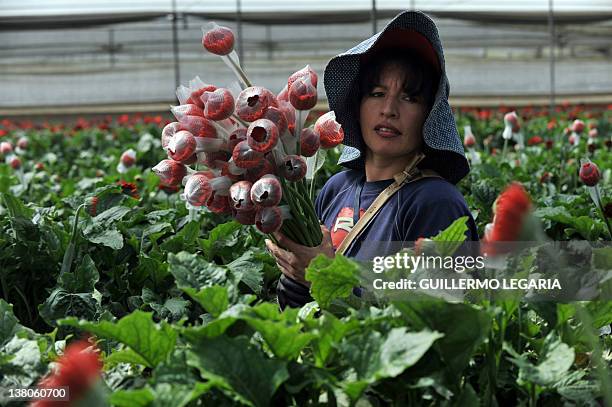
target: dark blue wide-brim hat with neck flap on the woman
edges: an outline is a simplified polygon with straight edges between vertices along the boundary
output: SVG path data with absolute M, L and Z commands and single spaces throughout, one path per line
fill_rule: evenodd
M 376 35 L 348 51 L 335 56 L 324 74 L 325 91 L 330 110 L 344 129 L 344 149 L 338 160 L 347 168 L 365 166 L 365 143 L 359 127 L 359 75 L 361 67 L 375 52 L 382 49 L 410 50 L 423 58 L 439 77 L 435 99 L 423 124 L 422 165 L 435 170 L 456 184 L 470 171 L 463 144 L 448 104 L 450 86 L 446 77 L 444 52 L 433 20 L 420 11 L 398 14 Z

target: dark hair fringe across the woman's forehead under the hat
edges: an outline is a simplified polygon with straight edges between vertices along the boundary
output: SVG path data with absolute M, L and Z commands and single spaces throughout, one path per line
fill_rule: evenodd
M 376 85 L 380 84 L 380 76 L 388 66 L 399 66 L 404 72 L 403 88 L 410 96 L 422 96 L 429 112 L 436 96 L 437 81 L 434 68 L 426 64 L 418 54 L 410 51 L 383 50 L 367 55 L 362 62 L 362 71 L 359 75 L 359 100 L 370 93 Z

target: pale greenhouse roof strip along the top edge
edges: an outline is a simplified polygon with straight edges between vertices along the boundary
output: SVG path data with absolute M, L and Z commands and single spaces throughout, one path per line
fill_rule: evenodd
M 236 19 L 237 1 L 205 0 L 3 0 L 0 29 L 67 28 L 143 21 L 173 12 L 206 19 Z M 265 24 L 342 23 L 371 18 L 372 0 L 242 0 L 241 19 Z M 378 0 L 377 16 L 391 17 L 414 8 L 438 17 L 512 23 L 543 23 L 549 0 Z M 588 22 L 612 18 L 610 0 L 555 0 L 557 22 Z

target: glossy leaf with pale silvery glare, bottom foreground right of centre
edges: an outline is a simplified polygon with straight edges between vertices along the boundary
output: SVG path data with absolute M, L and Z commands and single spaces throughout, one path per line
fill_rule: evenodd
M 355 370 L 357 380 L 344 383 L 346 393 L 356 401 L 368 385 L 396 377 L 414 365 L 443 336 L 429 330 L 407 332 L 401 327 L 385 337 L 377 331 L 349 337 L 340 344 L 340 351 Z

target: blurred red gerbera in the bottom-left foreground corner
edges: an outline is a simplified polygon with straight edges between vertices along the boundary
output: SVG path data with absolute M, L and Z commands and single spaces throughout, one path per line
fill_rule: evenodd
M 73 342 L 66 348 L 64 355 L 57 361 L 54 372 L 43 378 L 38 387 L 68 387 L 71 400 L 83 396 L 98 380 L 102 370 L 98 350 L 87 340 Z M 39 400 L 33 407 L 65 406 L 65 401 Z

